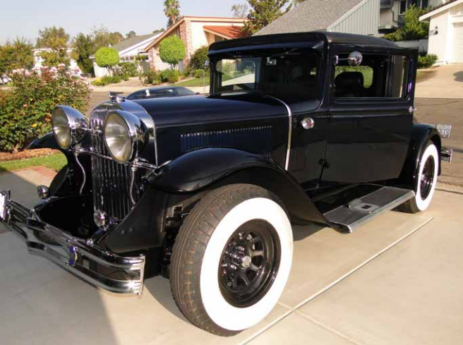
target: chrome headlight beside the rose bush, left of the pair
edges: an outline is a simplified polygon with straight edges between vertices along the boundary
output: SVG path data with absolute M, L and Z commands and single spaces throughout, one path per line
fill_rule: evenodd
M 52 127 L 59 147 L 67 150 L 83 140 L 88 130 L 88 120 L 80 111 L 59 105 L 52 111 Z

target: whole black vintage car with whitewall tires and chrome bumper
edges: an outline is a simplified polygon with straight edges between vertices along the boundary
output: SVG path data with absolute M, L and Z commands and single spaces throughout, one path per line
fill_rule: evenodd
M 188 320 L 228 336 L 277 303 L 291 224 L 350 233 L 392 208 L 424 211 L 450 151 L 414 123 L 414 50 L 306 32 L 216 42 L 209 57 L 208 96 L 112 96 L 89 117 L 56 107 L 31 148 L 68 165 L 32 210 L 2 192 L 0 218 L 103 289 L 169 277 Z

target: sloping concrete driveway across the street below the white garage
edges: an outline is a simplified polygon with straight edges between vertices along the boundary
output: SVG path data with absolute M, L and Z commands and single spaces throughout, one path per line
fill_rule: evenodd
M 463 63 L 450 63 L 428 71 L 430 78 L 416 84 L 415 97 L 463 98 Z

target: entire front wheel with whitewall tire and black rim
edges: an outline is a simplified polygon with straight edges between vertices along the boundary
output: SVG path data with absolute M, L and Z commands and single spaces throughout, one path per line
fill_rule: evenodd
M 196 205 L 174 244 L 171 288 L 194 325 L 231 336 L 260 322 L 289 277 L 292 229 L 268 190 L 237 184 Z

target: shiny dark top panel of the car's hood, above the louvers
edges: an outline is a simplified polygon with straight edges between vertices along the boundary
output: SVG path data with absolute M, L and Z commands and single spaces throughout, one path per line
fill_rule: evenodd
M 156 128 L 249 119 L 250 116 L 265 118 L 287 115 L 287 109 L 282 102 L 265 96 L 194 95 L 140 99 L 134 102 L 140 104 L 152 116 Z

